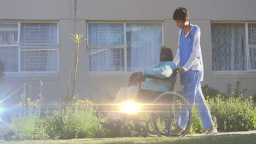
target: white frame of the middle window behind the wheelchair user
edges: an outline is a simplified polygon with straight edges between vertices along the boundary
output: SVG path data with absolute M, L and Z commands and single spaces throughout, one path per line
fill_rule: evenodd
M 87 38 L 89 38 L 89 23 L 124 23 L 124 45 L 89 45 L 87 40 L 87 71 L 88 74 L 127 74 L 132 71 L 127 71 L 127 44 L 126 44 L 126 23 L 161 23 L 162 24 L 162 45 L 164 44 L 164 21 L 87 21 Z M 89 57 L 88 49 L 124 49 L 124 71 L 90 71 L 89 70 Z

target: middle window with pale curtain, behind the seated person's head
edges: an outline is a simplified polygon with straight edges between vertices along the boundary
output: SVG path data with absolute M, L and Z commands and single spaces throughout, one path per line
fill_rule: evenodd
M 135 71 L 159 62 L 162 22 L 89 22 L 89 71 Z

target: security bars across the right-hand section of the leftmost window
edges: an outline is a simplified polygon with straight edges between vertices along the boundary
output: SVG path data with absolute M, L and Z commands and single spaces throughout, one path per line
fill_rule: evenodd
M 20 71 L 58 71 L 57 23 L 20 24 Z

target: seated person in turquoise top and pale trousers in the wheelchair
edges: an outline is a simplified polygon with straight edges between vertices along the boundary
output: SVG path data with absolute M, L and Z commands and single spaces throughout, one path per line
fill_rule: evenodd
M 173 56 L 172 51 L 168 45 L 164 45 L 161 48 L 160 52 L 160 63 L 155 65 L 153 69 L 148 69 L 141 71 L 139 73 L 133 73 L 129 78 L 129 87 L 123 87 L 119 90 L 117 95 L 115 96 L 115 99 L 113 101 L 114 104 L 120 104 L 123 103 L 123 101 L 126 100 L 135 100 L 138 96 L 139 88 L 136 86 L 137 81 L 141 79 L 143 75 L 154 75 L 156 77 L 160 77 L 164 79 L 165 77 L 170 77 L 172 74 L 172 71 L 174 69 L 178 69 L 176 64 L 172 63 Z M 152 91 L 156 91 L 156 93 L 159 92 L 169 92 L 170 88 L 172 86 L 171 81 L 163 81 L 163 80 L 156 80 L 156 79 L 146 79 L 144 82 L 144 89 L 150 89 Z M 146 92 L 146 91 L 145 91 Z M 145 97 L 150 97 L 150 95 L 156 96 L 156 93 L 144 93 L 143 91 L 140 92 L 141 94 L 145 95 Z M 115 130 L 118 130 L 118 125 L 123 125 L 123 131 L 127 129 L 129 125 L 129 119 L 125 117 L 125 113 L 120 113 L 114 111 L 114 107 L 111 107 L 108 113 L 108 122 L 101 122 L 103 125 L 103 128 L 112 129 L 115 128 Z M 113 127 L 117 126 L 117 127 Z M 125 134 L 123 134 L 124 136 Z

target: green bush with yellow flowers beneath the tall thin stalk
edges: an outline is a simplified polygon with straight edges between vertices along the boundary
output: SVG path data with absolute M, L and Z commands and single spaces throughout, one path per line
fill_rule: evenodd
M 44 125 L 50 139 L 77 139 L 100 137 L 103 129 L 96 116 L 94 104 L 88 100 L 78 100 L 63 109 L 47 112 Z

